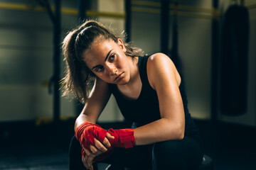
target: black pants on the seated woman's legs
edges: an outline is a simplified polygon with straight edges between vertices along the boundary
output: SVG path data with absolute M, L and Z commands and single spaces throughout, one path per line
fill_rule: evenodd
M 70 143 L 70 170 L 82 170 L 81 147 L 73 137 Z M 202 162 L 200 142 L 192 137 L 183 140 L 157 142 L 154 145 L 136 146 L 131 149 L 115 148 L 102 162 L 129 169 L 196 169 Z

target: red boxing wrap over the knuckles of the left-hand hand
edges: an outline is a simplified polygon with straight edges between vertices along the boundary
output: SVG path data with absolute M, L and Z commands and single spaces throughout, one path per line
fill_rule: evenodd
M 103 143 L 107 135 L 107 130 L 102 129 L 99 125 L 85 122 L 78 126 L 75 130 L 75 137 L 78 139 L 82 147 L 90 150 L 90 145 L 95 146 L 95 140 Z

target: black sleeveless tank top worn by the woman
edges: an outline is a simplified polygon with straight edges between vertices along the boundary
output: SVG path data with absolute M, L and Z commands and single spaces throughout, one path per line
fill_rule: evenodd
M 139 94 L 139 98 L 135 100 L 126 98 L 117 89 L 116 84 L 110 84 L 110 91 L 114 95 L 122 115 L 125 119 L 134 122 L 136 127 L 146 125 L 161 118 L 156 91 L 150 86 L 146 74 L 146 62 L 148 58 L 149 56 L 139 57 L 139 75 L 142 80 L 142 91 Z M 196 137 L 198 136 L 198 128 L 196 128 L 190 113 L 188 113 L 188 101 L 186 99 L 183 81 L 181 81 L 179 89 L 185 112 L 185 135 Z

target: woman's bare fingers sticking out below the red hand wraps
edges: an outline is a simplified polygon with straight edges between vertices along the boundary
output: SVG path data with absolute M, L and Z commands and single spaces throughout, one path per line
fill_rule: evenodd
M 92 163 L 95 162 L 95 157 L 107 152 L 107 149 L 111 147 L 109 140 L 113 139 L 114 137 L 107 132 L 107 135 L 102 143 L 95 139 L 95 146 L 90 145 L 90 150 L 82 147 L 85 151 L 85 154 L 82 155 L 82 164 L 84 164 L 86 169 L 93 170 Z

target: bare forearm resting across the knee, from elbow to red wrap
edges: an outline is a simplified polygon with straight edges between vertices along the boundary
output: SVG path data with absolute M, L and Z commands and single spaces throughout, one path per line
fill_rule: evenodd
M 134 129 L 136 145 L 148 145 L 165 140 L 182 140 L 184 136 L 184 123 L 176 123 L 173 120 L 161 118 Z

